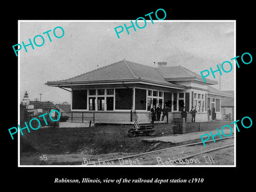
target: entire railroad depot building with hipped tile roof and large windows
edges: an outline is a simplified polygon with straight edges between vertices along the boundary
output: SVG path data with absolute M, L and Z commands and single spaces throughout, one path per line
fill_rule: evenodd
M 94 117 L 95 123 L 130 124 L 138 119 L 141 124 L 151 122 L 150 109 L 158 104 L 169 110 L 169 121 L 181 118 L 183 107 L 190 111 L 192 106 L 197 110 L 196 122 L 207 121 L 207 106 L 213 119 L 221 119 L 221 98 L 233 96 L 209 86 L 217 83 L 204 82 L 201 75 L 181 66 L 167 67 L 166 62 L 150 67 L 122 60 L 46 85 L 71 89 L 72 122 Z

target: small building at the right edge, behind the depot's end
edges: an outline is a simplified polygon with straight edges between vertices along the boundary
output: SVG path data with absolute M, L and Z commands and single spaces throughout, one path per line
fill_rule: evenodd
M 233 97 L 222 98 L 221 99 L 221 116 L 222 119 L 234 121 L 235 120 L 235 101 L 234 101 L 234 91 L 222 91 L 223 93 L 233 95 Z

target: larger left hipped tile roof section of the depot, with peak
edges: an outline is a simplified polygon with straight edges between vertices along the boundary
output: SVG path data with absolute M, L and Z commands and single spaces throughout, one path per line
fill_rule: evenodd
M 172 85 L 182 87 L 165 81 L 163 76 L 154 67 L 141 65 L 131 61 L 119 61 L 111 65 L 92 70 L 88 73 L 78 75 L 73 78 L 47 82 L 47 85 L 65 84 L 65 83 L 90 83 L 107 81 L 148 81 L 158 84 Z

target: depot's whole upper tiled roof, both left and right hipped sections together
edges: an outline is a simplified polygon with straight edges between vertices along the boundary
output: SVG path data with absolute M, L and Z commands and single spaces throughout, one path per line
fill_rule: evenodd
M 197 80 L 202 81 L 201 75 L 181 66 L 174 67 L 150 67 L 131 61 L 118 61 L 111 65 L 95 69 L 61 81 L 47 82 L 46 85 L 67 85 L 73 83 L 101 83 L 101 82 L 122 82 L 122 81 L 146 81 L 161 85 L 172 85 L 183 87 L 169 81 L 177 80 Z M 218 82 L 206 79 L 206 83 L 217 84 Z

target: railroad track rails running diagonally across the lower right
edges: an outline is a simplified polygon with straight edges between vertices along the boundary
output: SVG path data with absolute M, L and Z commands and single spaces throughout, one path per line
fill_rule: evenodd
M 218 140 L 225 140 L 225 139 L 230 139 L 230 138 L 234 138 L 234 136 L 230 136 L 230 137 L 222 138 L 222 139 L 215 139 L 215 141 L 218 141 Z M 209 143 L 209 142 L 213 142 L 213 140 L 205 141 L 205 143 Z M 102 165 L 102 164 L 104 164 L 105 162 L 118 162 L 118 161 L 120 162 L 120 159 L 122 159 L 122 161 L 123 161 L 123 159 L 130 159 L 130 158 L 139 157 L 139 156 L 145 156 L 145 155 L 153 154 L 153 153 L 161 153 L 162 151 L 172 150 L 172 149 L 181 148 L 181 147 L 195 146 L 195 145 L 200 145 L 200 144 L 202 144 L 202 143 L 203 143 L 203 142 L 195 142 L 195 143 L 190 143 L 190 144 L 187 144 L 187 145 L 181 145 L 181 146 L 169 147 L 169 148 L 164 148 L 164 149 L 158 149 L 158 150 L 148 151 L 148 152 L 140 153 L 140 154 L 134 154 L 134 155 L 124 156 L 124 157 L 118 157 L 118 158 L 107 159 L 107 160 L 104 160 L 104 161 L 98 161 L 98 162 L 89 163 L 89 164 L 86 164 L 86 165 L 95 165 L 95 164 Z M 173 162 L 179 162 L 179 159 L 180 159 L 180 160 L 182 160 L 182 159 L 188 159 L 188 158 L 191 158 L 191 157 L 200 155 L 200 154 L 209 153 L 209 152 L 211 152 L 211 151 L 220 150 L 220 149 L 227 148 L 227 147 L 231 147 L 231 146 L 234 146 L 234 143 L 231 144 L 231 145 L 221 146 L 221 147 L 217 147 L 217 148 L 214 148 L 214 149 L 205 150 L 205 151 L 202 151 L 202 152 L 199 152 L 199 153 L 195 153 L 195 154 L 192 154 L 192 155 L 188 155 L 188 156 L 185 156 L 185 157 L 173 159 L 172 161 L 173 161 Z M 175 163 L 174 163 L 174 164 L 175 164 Z M 159 164 L 154 164 L 154 165 L 159 165 Z

